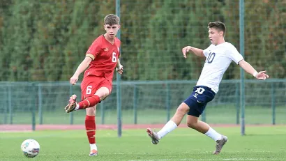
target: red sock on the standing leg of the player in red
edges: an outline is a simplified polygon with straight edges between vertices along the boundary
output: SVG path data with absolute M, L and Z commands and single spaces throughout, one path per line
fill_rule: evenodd
M 96 144 L 96 116 L 86 115 L 85 129 L 89 144 Z

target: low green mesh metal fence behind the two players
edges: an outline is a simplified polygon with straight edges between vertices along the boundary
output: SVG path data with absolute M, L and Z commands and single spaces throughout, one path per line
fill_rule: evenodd
M 121 82 L 123 124 L 165 123 L 193 91 L 195 81 Z M 225 80 L 209 102 L 202 120 L 239 124 L 240 81 Z M 246 124 L 286 123 L 286 79 L 246 80 Z M 68 82 L 1 82 L 1 124 L 81 124 L 85 110 L 66 114 L 63 107 L 80 84 Z M 97 123 L 115 124 L 116 82 L 112 94 L 97 107 Z

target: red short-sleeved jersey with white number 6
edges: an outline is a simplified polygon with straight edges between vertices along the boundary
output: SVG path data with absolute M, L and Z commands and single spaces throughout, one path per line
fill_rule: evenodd
M 86 52 L 86 56 L 91 57 L 93 61 L 91 61 L 89 68 L 84 72 L 84 77 L 96 75 L 112 80 L 120 55 L 120 43 L 118 38 L 115 38 L 114 44 L 112 44 L 103 35 L 98 36 Z

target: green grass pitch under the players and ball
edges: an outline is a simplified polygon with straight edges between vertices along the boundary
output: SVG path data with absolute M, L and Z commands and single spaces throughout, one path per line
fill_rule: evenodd
M 227 135 L 229 141 L 220 155 L 212 155 L 215 142 L 195 130 L 178 128 L 164 137 L 158 145 L 151 144 L 144 129 L 98 130 L 98 156 L 89 157 L 89 144 L 84 130 L 47 130 L 36 132 L 0 132 L 0 160 L 286 160 L 286 127 L 215 128 Z M 40 153 L 25 158 L 20 151 L 24 139 L 36 139 Z

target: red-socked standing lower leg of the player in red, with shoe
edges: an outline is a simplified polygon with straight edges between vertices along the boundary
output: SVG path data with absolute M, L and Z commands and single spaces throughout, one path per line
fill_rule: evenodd
M 89 156 L 96 156 L 98 155 L 96 146 L 96 106 L 86 109 L 85 129 L 91 148 Z

